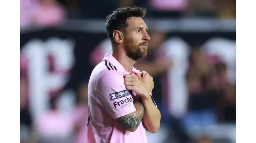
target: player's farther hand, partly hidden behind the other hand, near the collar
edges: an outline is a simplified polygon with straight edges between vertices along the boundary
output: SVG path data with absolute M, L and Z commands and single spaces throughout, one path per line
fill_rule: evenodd
M 148 90 L 150 90 L 150 92 L 153 90 L 153 88 L 154 88 L 154 81 L 153 81 L 153 77 L 152 76 L 150 76 L 145 71 L 137 73 L 136 76 L 139 78 L 139 80 L 143 84 L 146 85 L 146 87 L 148 88 Z

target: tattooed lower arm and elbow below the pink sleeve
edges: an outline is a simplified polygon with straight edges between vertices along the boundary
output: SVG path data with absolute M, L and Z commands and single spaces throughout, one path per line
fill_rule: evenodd
M 134 102 L 136 111 L 118 118 L 118 123 L 122 125 L 125 130 L 136 130 L 141 122 L 144 114 L 144 106 L 141 102 Z

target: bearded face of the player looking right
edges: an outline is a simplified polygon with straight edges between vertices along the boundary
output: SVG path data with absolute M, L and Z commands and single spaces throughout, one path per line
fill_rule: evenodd
M 137 61 L 147 55 L 148 41 L 147 25 L 141 18 L 128 19 L 128 27 L 124 37 L 126 55 Z

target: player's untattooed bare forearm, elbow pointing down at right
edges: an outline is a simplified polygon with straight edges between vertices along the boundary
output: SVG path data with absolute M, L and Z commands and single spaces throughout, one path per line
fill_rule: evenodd
M 147 131 L 156 133 L 160 128 L 161 113 L 149 97 L 142 99 L 144 106 L 143 123 Z

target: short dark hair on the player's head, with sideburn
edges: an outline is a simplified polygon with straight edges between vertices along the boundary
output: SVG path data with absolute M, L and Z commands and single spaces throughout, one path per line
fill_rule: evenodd
M 113 32 L 115 30 L 119 30 L 122 32 L 126 32 L 126 28 L 128 26 L 127 20 L 131 17 L 140 17 L 144 18 L 147 11 L 145 8 L 141 7 L 124 7 L 118 8 L 117 10 L 113 11 L 112 14 L 107 16 L 106 21 L 106 28 L 108 37 L 112 42 L 113 40 Z

